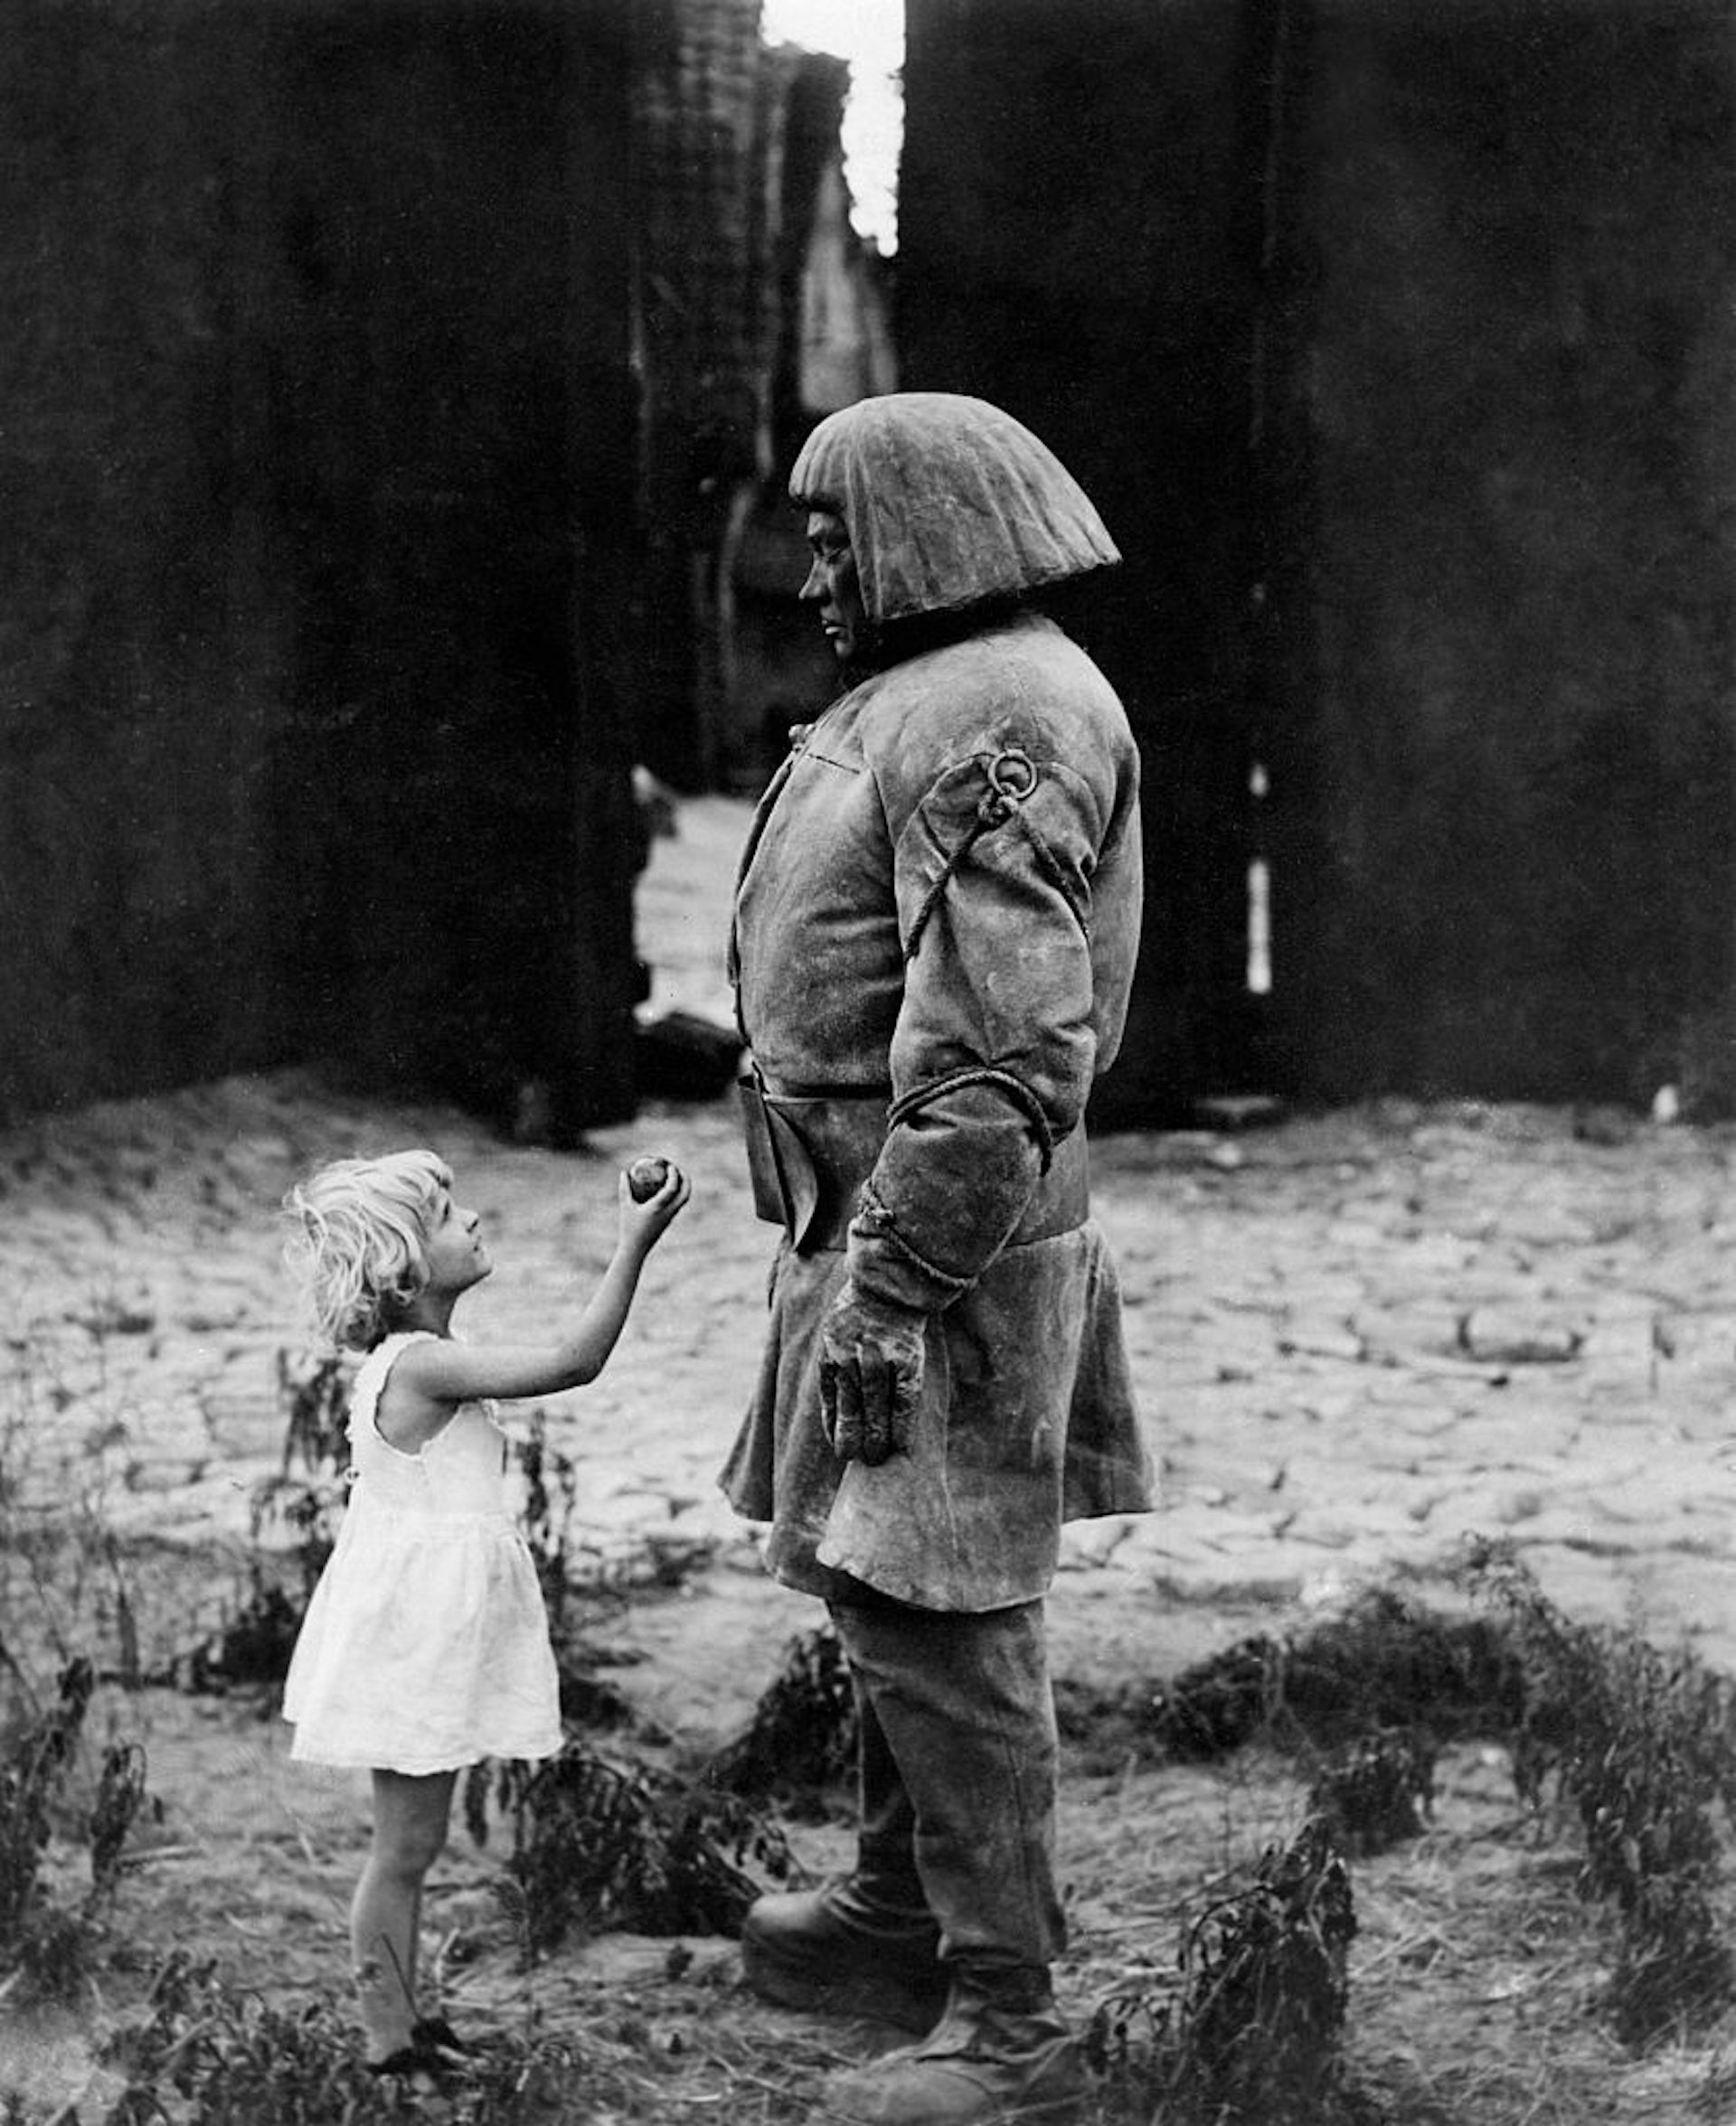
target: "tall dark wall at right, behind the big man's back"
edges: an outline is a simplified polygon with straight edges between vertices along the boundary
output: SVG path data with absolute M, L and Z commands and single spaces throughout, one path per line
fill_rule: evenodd
M 1115 1106 L 1736 1095 L 1725 9 L 911 0 L 906 117 L 904 381 L 1128 557 Z

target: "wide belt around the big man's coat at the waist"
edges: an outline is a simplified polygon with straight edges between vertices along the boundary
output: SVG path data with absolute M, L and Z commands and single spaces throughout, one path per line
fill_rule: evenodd
M 757 1074 L 736 1080 L 736 1091 L 757 1216 L 781 1225 L 802 1254 L 842 1248 L 857 1193 L 885 1144 L 891 1093 L 772 1093 Z M 1089 1208 L 1085 1131 L 1072 1129 L 1055 1146 L 1006 1246 L 1070 1233 Z

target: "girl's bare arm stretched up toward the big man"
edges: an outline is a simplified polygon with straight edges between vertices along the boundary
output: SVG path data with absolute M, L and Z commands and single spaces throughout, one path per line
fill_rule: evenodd
M 417 1401 L 451 1410 L 479 1395 L 523 1397 L 583 1388 L 608 1363 L 638 1290 L 645 1259 L 681 1212 L 694 1184 L 670 1165 L 664 1186 L 636 1203 L 621 1174 L 615 1184 L 619 1237 L 602 1282 L 572 1329 L 553 1344 L 455 1344 L 438 1337 L 411 1344 L 398 1361 L 394 1382 Z

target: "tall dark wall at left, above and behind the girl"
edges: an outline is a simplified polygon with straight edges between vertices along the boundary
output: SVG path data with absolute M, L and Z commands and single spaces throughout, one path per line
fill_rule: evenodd
M 9 13 L 0 1110 L 625 1112 L 623 21 Z

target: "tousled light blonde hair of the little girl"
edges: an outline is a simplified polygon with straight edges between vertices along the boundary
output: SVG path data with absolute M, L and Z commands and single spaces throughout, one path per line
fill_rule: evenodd
M 334 1159 L 283 1199 L 300 1231 L 285 1244 L 319 1333 L 372 1350 L 428 1284 L 428 1214 L 451 1188 L 434 1152 Z

